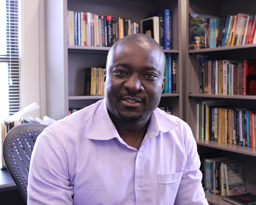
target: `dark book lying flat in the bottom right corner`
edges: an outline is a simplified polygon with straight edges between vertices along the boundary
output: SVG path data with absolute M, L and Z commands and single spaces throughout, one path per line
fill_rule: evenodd
M 233 196 L 223 196 L 223 200 L 235 205 L 253 205 L 256 204 L 256 195 L 252 193 L 243 193 Z

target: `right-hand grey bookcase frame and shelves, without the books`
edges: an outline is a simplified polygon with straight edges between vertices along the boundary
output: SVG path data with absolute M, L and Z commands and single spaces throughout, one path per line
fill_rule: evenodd
M 214 16 L 237 15 L 238 13 L 255 14 L 256 2 L 252 0 L 187 0 L 187 19 L 189 13 L 201 13 Z M 187 21 L 187 45 L 188 45 Z M 189 50 L 186 48 L 186 121 L 196 135 L 196 103 L 197 99 L 225 99 L 231 107 L 256 109 L 256 96 L 252 95 L 215 95 L 199 92 L 200 74 L 199 58 L 217 58 L 230 60 L 256 59 L 256 44 L 230 47 L 205 48 Z M 221 150 L 226 157 L 243 163 L 246 191 L 256 194 L 256 149 L 214 141 L 196 140 L 199 152 Z M 209 204 L 230 205 L 217 194 L 206 193 Z

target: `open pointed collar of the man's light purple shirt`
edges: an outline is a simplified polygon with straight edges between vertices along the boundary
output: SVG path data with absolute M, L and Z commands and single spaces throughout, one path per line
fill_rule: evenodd
M 152 113 L 147 131 L 150 139 L 156 137 L 159 134 L 159 131 L 165 133 L 178 126 L 167 116 L 167 114 L 162 113 L 159 109 L 156 109 Z M 84 137 L 97 140 L 109 140 L 115 137 L 120 139 L 116 127 L 109 117 L 105 99 L 102 100 L 95 110 L 91 125 Z

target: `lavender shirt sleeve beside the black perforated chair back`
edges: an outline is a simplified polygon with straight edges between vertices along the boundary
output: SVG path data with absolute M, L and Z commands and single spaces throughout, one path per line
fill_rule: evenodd
M 70 184 L 67 156 L 58 136 L 46 128 L 35 142 L 31 156 L 28 205 L 72 205 L 74 186 Z

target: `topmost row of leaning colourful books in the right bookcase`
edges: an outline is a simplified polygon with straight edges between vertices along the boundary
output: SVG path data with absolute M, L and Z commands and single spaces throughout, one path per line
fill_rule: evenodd
M 190 13 L 189 49 L 216 48 L 256 43 L 256 14 L 223 17 Z

